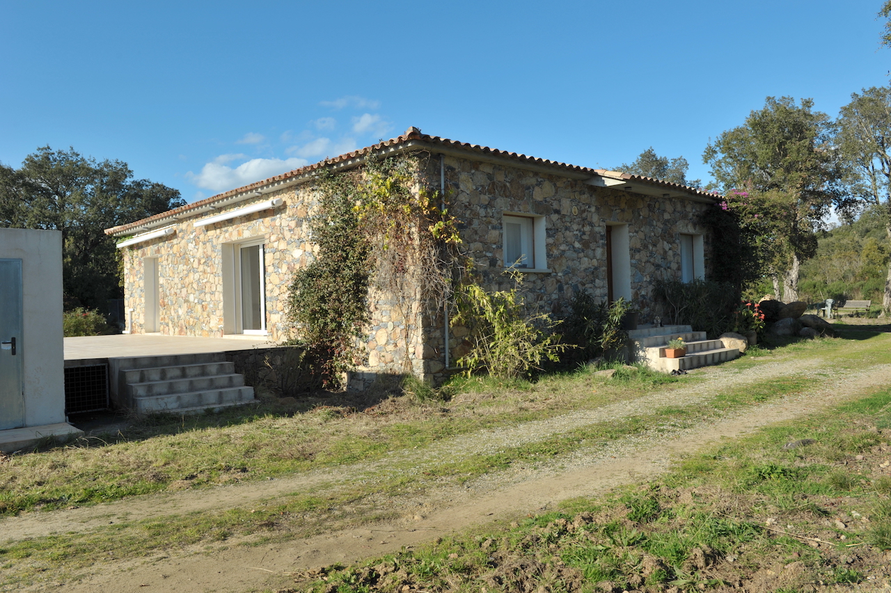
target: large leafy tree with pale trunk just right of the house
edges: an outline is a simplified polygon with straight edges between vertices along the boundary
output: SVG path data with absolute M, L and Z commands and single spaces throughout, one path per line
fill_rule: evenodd
M 844 196 L 845 169 L 831 145 L 830 118 L 813 100 L 767 97 L 743 126 L 709 142 L 703 162 L 744 222 L 762 230 L 761 248 L 783 300 L 797 300 L 801 262 L 813 256 L 814 229 Z M 756 221 L 756 218 L 760 219 Z M 779 296 L 779 295 L 778 295 Z

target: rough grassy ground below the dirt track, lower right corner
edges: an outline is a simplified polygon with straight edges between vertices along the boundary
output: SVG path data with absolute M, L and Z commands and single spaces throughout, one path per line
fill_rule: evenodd
M 887 475 L 875 471 L 887 459 L 887 433 L 877 440 L 875 426 L 889 422 L 891 390 L 880 390 L 691 456 L 655 483 L 566 501 L 509 528 L 326 567 L 323 581 L 297 575 L 298 583 L 307 591 L 880 588 L 891 574 L 891 500 Z M 817 443 L 781 447 L 802 434 Z M 864 459 L 852 470 L 855 454 Z

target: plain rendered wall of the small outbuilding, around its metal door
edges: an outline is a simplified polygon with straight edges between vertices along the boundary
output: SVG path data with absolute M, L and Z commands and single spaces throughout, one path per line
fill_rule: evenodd
M 0 228 L 0 258 L 21 260 L 25 426 L 64 422 L 61 232 Z

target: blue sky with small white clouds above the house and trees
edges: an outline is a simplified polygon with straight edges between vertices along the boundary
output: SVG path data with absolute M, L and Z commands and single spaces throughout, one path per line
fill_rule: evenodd
M 402 134 L 707 181 L 768 95 L 836 116 L 888 84 L 881 0 L 0 0 L 0 162 L 126 161 L 192 201 Z

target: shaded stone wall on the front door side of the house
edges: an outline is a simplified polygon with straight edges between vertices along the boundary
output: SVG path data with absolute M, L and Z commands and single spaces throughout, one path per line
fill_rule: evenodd
M 631 260 L 631 297 L 642 322 L 658 314 L 653 299 L 656 280 L 680 278 L 680 235 L 707 235 L 699 213 L 708 206 L 688 199 L 654 198 L 596 187 L 559 175 L 532 173 L 469 158 L 445 158 L 446 196 L 450 212 L 462 221 L 462 240 L 469 246 L 486 288 L 509 289 L 504 275 L 503 213 L 543 217 L 546 267 L 550 272 L 522 273 L 527 304 L 557 316 L 568 313 L 573 294 L 587 290 L 607 300 L 606 227 L 626 224 Z M 428 176 L 438 181 L 438 159 Z M 438 184 L 438 183 L 437 183 Z M 535 264 L 535 268 L 540 268 Z M 427 332 L 426 364 L 431 378 L 444 377 L 441 321 Z M 450 357 L 467 352 L 467 331 L 450 331 Z

